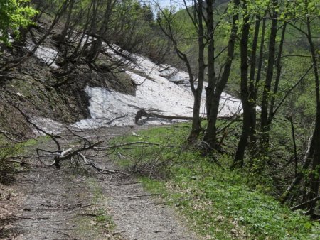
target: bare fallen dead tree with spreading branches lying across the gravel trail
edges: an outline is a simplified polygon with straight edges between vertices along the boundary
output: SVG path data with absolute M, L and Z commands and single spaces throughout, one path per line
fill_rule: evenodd
M 100 165 L 102 164 L 101 161 L 105 162 L 105 158 L 108 158 L 110 154 L 114 153 L 119 148 L 124 148 L 127 146 L 159 146 L 159 148 L 171 148 L 172 146 L 162 146 L 160 143 L 151 143 L 148 141 L 134 141 L 130 143 L 117 143 L 117 144 L 107 144 L 107 142 L 100 140 L 100 137 L 97 136 L 95 131 L 95 141 L 90 140 L 90 137 L 81 136 L 79 132 L 83 132 L 82 129 L 70 129 L 69 127 L 65 126 L 65 131 L 68 131 L 69 136 L 72 138 L 72 143 L 77 142 L 78 146 L 70 146 L 70 141 L 65 142 L 64 138 L 61 138 L 60 135 L 55 135 L 53 133 L 49 133 L 45 129 L 38 126 L 33 119 L 31 119 L 28 114 L 22 111 L 18 105 L 15 108 L 20 112 L 20 114 L 26 119 L 28 124 L 31 124 L 34 129 L 43 133 L 44 135 L 51 138 L 53 141 L 53 146 L 41 147 L 36 148 L 36 156 L 33 159 L 38 159 L 41 163 L 47 166 L 55 166 L 55 168 L 60 168 L 61 164 L 64 161 L 69 161 L 71 165 L 77 166 L 84 166 L 87 165 L 91 168 L 94 168 L 100 173 L 107 173 L 107 174 L 121 174 L 121 175 L 129 175 L 129 173 L 125 173 L 121 170 L 110 170 L 107 168 L 102 168 Z M 105 143 L 102 145 L 102 143 Z M 67 144 L 66 149 L 63 148 L 63 145 Z M 100 157 L 100 159 L 98 158 Z M 19 158 L 28 158 L 30 156 L 19 156 Z M 96 164 L 97 161 L 100 161 L 101 164 Z

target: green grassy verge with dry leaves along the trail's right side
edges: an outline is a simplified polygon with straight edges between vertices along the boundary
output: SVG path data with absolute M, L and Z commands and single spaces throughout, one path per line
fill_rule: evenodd
M 208 239 L 319 237 L 319 224 L 267 195 L 272 192 L 272 180 L 267 176 L 245 169 L 228 170 L 232 160 L 229 156 L 218 158 L 223 170 L 196 148 L 184 146 L 188 130 L 186 124 L 164 126 L 122 138 L 122 142 L 161 145 L 119 149 L 122 157 L 118 161 L 136 165 L 144 175 L 146 190 L 160 194 L 188 219 L 192 229 Z M 150 178 L 154 175 L 157 178 Z

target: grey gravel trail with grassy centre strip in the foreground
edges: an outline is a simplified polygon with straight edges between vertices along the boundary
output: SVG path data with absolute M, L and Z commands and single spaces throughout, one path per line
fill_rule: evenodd
M 137 129 L 113 127 L 95 134 L 107 140 L 107 135 L 131 131 Z M 68 144 L 74 141 L 65 134 L 63 138 Z M 114 168 L 111 160 L 106 166 Z M 132 177 L 85 173 L 65 164 L 60 170 L 43 168 L 34 160 L 19 173 L 14 189 L 24 199 L 5 228 L 7 239 L 196 239 L 169 207 Z

